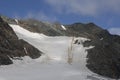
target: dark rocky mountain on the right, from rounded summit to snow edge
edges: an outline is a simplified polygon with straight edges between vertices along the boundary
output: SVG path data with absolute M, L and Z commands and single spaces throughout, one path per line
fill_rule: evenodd
M 120 36 L 111 35 L 93 23 L 69 25 L 75 36 L 91 39 L 84 46 L 95 46 L 88 50 L 87 67 L 102 76 L 120 78 Z

